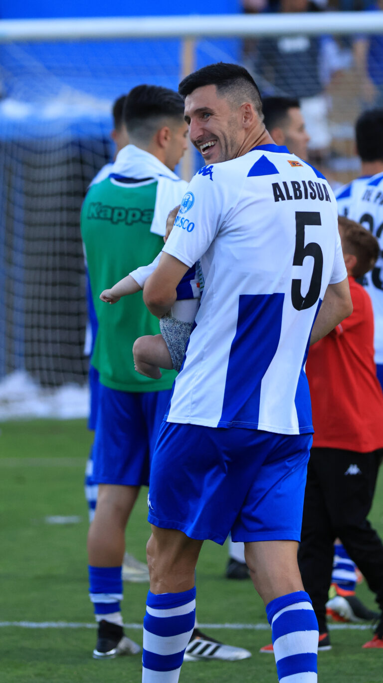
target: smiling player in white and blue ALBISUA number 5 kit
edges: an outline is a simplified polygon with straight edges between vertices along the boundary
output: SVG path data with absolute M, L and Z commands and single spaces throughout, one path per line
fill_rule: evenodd
M 167 313 L 197 259 L 205 286 L 152 460 L 143 682 L 178 681 L 199 551 L 231 531 L 266 604 L 279 680 L 312 683 L 317 621 L 296 559 L 313 432 L 304 362 L 310 339 L 352 310 L 335 197 L 320 173 L 274 145 L 244 68 L 202 68 L 180 93 L 206 166 L 144 301 L 158 318 Z

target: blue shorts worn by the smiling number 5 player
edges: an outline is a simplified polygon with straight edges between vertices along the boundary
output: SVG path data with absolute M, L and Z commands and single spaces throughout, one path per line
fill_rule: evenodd
M 311 434 L 162 422 L 148 520 L 189 538 L 300 540 Z

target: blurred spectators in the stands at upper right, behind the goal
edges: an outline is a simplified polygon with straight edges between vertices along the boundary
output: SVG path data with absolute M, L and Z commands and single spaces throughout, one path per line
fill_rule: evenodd
M 242 0 L 246 13 L 382 11 L 383 0 Z M 262 96 L 300 100 L 309 158 L 333 183 L 357 171 L 352 126 L 361 111 L 383 106 L 383 35 L 276 36 L 244 41 L 244 66 Z

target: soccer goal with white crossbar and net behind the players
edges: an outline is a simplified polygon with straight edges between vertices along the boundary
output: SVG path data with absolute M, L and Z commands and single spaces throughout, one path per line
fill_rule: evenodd
M 357 175 L 354 122 L 383 102 L 383 12 L 0 22 L 0 419 L 86 415 L 79 212 L 113 158 L 113 101 L 214 61 L 298 98 L 313 161 L 334 185 Z M 180 173 L 201 164 L 190 153 Z

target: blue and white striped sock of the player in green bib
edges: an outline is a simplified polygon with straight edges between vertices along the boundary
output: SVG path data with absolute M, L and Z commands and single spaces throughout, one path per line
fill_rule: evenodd
M 94 604 L 96 622 L 122 626 L 119 601 L 122 600 L 122 567 L 92 567 L 89 571 L 89 598 Z

